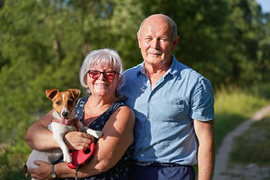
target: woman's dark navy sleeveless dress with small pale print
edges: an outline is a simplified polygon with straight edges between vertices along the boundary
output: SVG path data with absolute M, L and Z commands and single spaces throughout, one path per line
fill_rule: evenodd
M 84 106 L 88 99 L 88 96 L 85 96 L 79 99 L 75 106 L 75 117 L 77 117 L 80 121 L 83 120 L 84 116 Z M 125 105 L 120 100 L 117 100 L 113 103 L 100 117 L 98 117 L 95 121 L 93 121 L 88 128 L 93 130 L 102 131 L 107 120 L 110 116 L 118 109 L 118 107 Z M 97 141 L 97 139 L 96 139 Z M 124 153 L 124 155 L 120 158 L 118 163 L 111 168 L 109 171 L 102 172 L 101 174 L 94 175 L 86 178 L 78 178 L 85 180 L 104 180 L 104 179 L 129 179 L 130 174 L 130 160 L 132 155 L 133 146 L 129 147 L 128 150 Z M 66 180 L 71 180 L 75 178 L 66 178 Z

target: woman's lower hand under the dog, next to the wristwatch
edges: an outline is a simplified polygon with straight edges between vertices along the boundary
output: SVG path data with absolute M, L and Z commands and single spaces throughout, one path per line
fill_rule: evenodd
M 31 177 L 34 179 L 52 179 L 50 176 L 51 164 L 43 160 L 35 160 L 34 164 L 39 166 L 38 168 L 29 168 L 28 171 L 31 173 Z

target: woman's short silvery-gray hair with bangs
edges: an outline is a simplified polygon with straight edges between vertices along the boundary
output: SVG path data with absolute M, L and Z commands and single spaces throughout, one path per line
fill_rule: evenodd
M 124 70 L 123 70 L 122 61 L 121 61 L 120 56 L 118 55 L 118 52 L 114 49 L 107 49 L 107 48 L 93 50 L 88 53 L 80 69 L 80 83 L 82 87 L 87 88 L 86 93 L 88 95 L 91 95 L 91 92 L 86 82 L 86 76 L 87 76 L 88 70 L 95 66 L 108 66 L 108 65 L 111 66 L 112 69 L 116 70 L 119 73 L 120 83 L 118 87 L 122 86 Z M 119 96 L 118 92 L 116 92 L 116 95 Z

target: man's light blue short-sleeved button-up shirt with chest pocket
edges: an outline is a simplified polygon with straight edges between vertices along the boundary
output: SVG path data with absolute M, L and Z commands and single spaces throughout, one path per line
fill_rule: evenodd
M 154 88 L 146 76 L 144 63 L 124 73 L 121 91 L 136 116 L 133 158 L 194 165 L 197 141 L 192 119 L 214 118 L 214 98 L 209 80 L 179 63 L 172 64 Z

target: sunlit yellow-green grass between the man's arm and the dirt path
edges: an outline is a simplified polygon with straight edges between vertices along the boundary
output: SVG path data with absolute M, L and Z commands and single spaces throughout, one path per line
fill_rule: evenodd
M 264 85 L 263 85 L 264 87 Z M 262 87 L 243 89 L 223 87 L 215 94 L 215 146 L 220 147 L 222 139 L 241 122 L 253 116 L 261 107 L 269 103 L 267 91 L 258 91 Z M 269 88 L 268 88 L 269 89 Z M 269 89 L 270 90 L 270 89 Z

